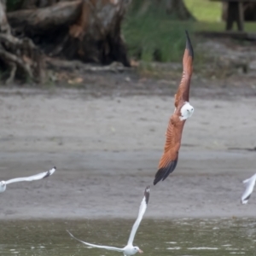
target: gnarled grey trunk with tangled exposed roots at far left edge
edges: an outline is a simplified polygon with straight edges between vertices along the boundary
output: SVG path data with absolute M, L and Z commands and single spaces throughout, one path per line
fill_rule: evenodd
M 15 76 L 24 75 L 41 82 L 44 79 L 44 58 L 30 39 L 15 38 L 11 34 L 5 9 L 5 1 L 0 0 L 0 68 L 9 70 L 6 83 L 11 83 Z

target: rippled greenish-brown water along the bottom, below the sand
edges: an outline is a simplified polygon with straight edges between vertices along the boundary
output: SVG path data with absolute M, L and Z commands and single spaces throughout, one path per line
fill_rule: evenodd
M 133 220 L 0 222 L 0 255 L 120 255 L 87 248 L 73 240 L 115 247 L 125 246 Z M 144 255 L 256 255 L 256 219 L 143 219 L 135 245 Z M 137 254 L 138 255 L 138 254 Z

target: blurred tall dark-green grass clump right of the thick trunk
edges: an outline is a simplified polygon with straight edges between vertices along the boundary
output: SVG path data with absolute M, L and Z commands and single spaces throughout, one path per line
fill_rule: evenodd
M 134 1 L 123 25 L 129 54 L 143 61 L 180 61 L 185 30 L 191 22 L 180 22 L 166 14 L 165 8 L 153 3 Z M 171 49 L 171 50 L 170 50 Z

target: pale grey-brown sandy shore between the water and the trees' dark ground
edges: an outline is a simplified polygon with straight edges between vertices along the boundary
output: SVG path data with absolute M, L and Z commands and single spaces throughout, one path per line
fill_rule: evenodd
M 254 217 L 256 195 L 246 206 L 240 197 L 256 170 L 255 98 L 190 102 L 177 168 L 153 186 L 172 96 L 0 91 L 1 179 L 57 166 L 47 180 L 10 184 L 0 218 L 135 218 L 148 184 L 148 218 Z

